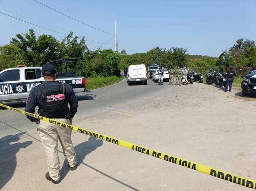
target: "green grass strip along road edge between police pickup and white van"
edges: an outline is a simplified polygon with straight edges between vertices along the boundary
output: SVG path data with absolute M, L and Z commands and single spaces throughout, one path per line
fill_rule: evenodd
M 118 83 L 124 79 L 123 76 L 109 76 L 109 77 L 94 77 L 94 78 L 86 78 L 86 89 L 93 90 L 97 88 L 102 88 L 105 86 L 112 85 L 114 83 Z

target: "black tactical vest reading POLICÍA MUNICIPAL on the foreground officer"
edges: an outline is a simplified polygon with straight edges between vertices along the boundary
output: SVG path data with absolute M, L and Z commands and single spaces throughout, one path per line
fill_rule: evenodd
M 43 83 L 39 87 L 44 100 L 42 110 L 45 110 L 45 114 L 43 116 L 46 118 L 68 118 L 69 110 L 65 95 L 65 84 L 60 82 L 60 90 L 58 91 L 47 90 Z

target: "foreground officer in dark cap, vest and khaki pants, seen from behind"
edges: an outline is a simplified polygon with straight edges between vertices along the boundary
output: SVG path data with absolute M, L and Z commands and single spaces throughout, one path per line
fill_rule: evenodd
M 39 115 L 71 124 L 78 108 L 78 101 L 72 86 L 55 81 L 57 73 L 52 64 L 43 65 L 41 76 L 45 81 L 30 91 L 25 111 L 35 113 L 35 107 L 38 105 Z M 68 108 L 68 104 L 70 108 Z M 48 172 L 45 174 L 45 178 L 54 184 L 59 184 L 58 140 L 63 149 L 63 154 L 68 160 L 70 170 L 76 169 L 75 150 L 70 137 L 71 130 L 43 120 L 39 121 L 28 115 L 27 118 L 31 122 L 39 124 L 37 131 L 45 149 L 48 165 Z

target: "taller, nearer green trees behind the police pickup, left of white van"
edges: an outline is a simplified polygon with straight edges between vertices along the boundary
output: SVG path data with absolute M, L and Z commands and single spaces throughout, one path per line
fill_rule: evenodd
M 26 34 L 16 34 L 9 44 L 0 47 L 0 71 L 16 67 L 43 66 L 47 61 L 63 58 L 81 58 L 86 77 L 112 76 L 115 74 L 120 57 L 111 49 L 90 51 L 84 37 L 73 37 L 73 33 L 61 42 L 46 34 L 35 36 L 33 29 Z

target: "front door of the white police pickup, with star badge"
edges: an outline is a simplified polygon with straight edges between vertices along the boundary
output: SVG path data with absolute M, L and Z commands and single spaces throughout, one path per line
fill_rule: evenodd
M 20 69 L 10 69 L 0 73 L 0 101 L 24 100 L 25 84 Z

